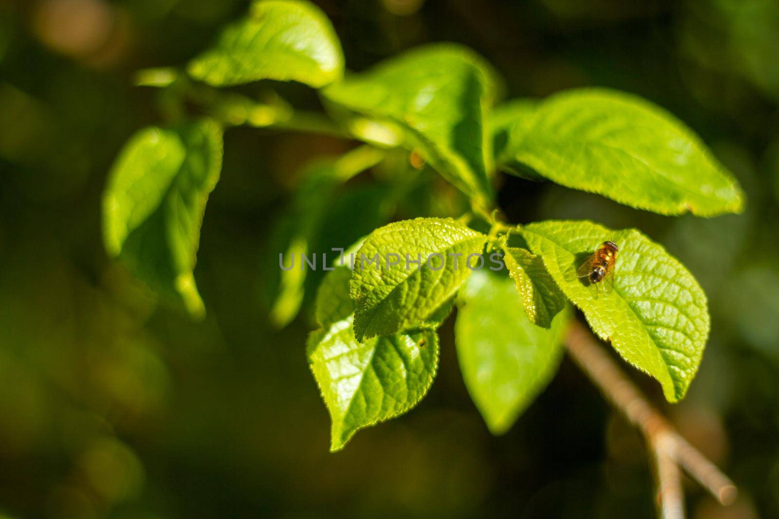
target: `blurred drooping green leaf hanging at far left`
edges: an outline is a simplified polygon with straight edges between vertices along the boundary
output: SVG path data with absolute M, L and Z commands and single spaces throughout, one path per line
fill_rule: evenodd
M 219 180 L 222 130 L 210 120 L 145 128 L 122 149 L 103 197 L 108 254 L 153 289 L 205 312 L 192 271 L 208 195 Z

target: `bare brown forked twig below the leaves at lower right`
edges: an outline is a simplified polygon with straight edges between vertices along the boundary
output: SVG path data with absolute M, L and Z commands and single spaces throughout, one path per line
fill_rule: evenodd
M 598 344 L 587 328 L 576 321 L 571 325 L 566 346 L 573 360 L 605 397 L 619 409 L 647 440 L 654 454 L 657 477 L 657 503 L 664 519 L 684 517 L 681 470 L 728 505 L 736 497 L 733 482 L 714 463 L 685 440 L 667 419 L 650 404 L 636 384 Z

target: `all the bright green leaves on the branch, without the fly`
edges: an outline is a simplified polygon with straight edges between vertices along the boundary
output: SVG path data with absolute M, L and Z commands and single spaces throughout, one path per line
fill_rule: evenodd
M 494 107 L 497 75 L 452 44 L 344 75 L 326 16 L 308 2 L 287 0 L 256 2 L 187 71 L 189 79 L 183 72 L 147 71 L 141 83 L 207 100 L 203 111 L 213 118 L 179 114 L 171 126 L 133 136 L 111 171 L 103 223 L 108 253 L 193 315 L 204 311 L 193 270 L 203 209 L 220 173 L 221 128 L 242 124 L 241 117 L 220 114 L 231 113 L 236 99 L 241 110 L 262 112 L 264 122 L 256 125 L 368 143 L 309 168 L 291 205 L 288 255 L 310 250 L 333 192 L 362 170 L 378 164 L 393 193 L 413 198 L 417 177 L 397 156 L 435 170 L 456 188 L 453 198 L 471 208 L 446 215 L 456 219 L 379 226 L 351 249 L 354 261 L 340 258 L 324 277 L 314 305 L 319 329 L 307 352 L 330 411 L 333 451 L 362 427 L 407 412 L 425 396 L 439 360 L 436 328 L 455 301 L 460 367 L 494 433 L 506 432 L 554 377 L 572 317 L 569 302 L 622 358 L 655 377 L 669 402 L 686 394 L 710 318 L 703 290 L 679 261 L 638 230 L 588 221 L 514 226 L 495 216 L 498 168 L 663 215 L 741 212 L 744 196 L 731 174 L 661 107 L 608 89 Z M 260 79 L 319 89 L 330 118 L 217 88 Z M 357 120 L 372 132 L 360 131 Z M 376 132 L 386 139 L 368 136 Z M 358 226 L 354 218 L 346 225 Z M 619 244 L 619 255 L 612 293 L 597 296 L 576 269 L 605 240 Z M 485 265 L 493 254 L 505 265 Z M 474 265 L 479 258 L 482 265 Z M 281 277 L 271 310 L 278 325 L 298 314 L 305 289 L 305 272 Z

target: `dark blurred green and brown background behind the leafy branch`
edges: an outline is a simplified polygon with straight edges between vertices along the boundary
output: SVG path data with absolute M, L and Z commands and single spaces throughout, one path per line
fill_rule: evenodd
M 741 490 L 720 508 L 689 482 L 690 517 L 779 517 L 779 2 L 315 3 L 351 69 L 456 41 L 498 68 L 509 97 L 624 89 L 703 136 L 745 187 L 745 215 L 666 218 L 516 177 L 501 178 L 499 200 L 516 222 L 637 226 L 689 267 L 713 327 L 686 400 L 662 403 L 653 380 L 622 365 Z M 491 437 L 461 380 L 451 318 L 421 405 L 328 453 L 329 419 L 305 359 L 315 276 L 291 325 L 274 329 L 267 316 L 296 172 L 354 143 L 227 132 L 196 268 L 203 322 L 108 261 L 108 169 L 132 132 L 163 121 L 164 100 L 133 87 L 133 73 L 184 64 L 246 9 L 240 0 L 0 0 L 0 511 L 654 517 L 640 436 L 567 359 L 516 426 Z M 319 107 L 299 85 L 244 91 L 269 85 Z M 377 170 L 336 194 L 327 247 L 389 217 L 456 212 L 433 175 L 389 207 L 386 184 Z M 344 233 L 344 218 L 368 229 Z

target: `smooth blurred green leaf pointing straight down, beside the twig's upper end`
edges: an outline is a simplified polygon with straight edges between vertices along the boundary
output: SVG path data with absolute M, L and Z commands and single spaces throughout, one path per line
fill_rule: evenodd
M 527 320 L 506 275 L 474 272 L 457 297 L 455 345 L 465 385 L 493 434 L 506 433 L 555 376 L 570 312 L 550 329 Z

